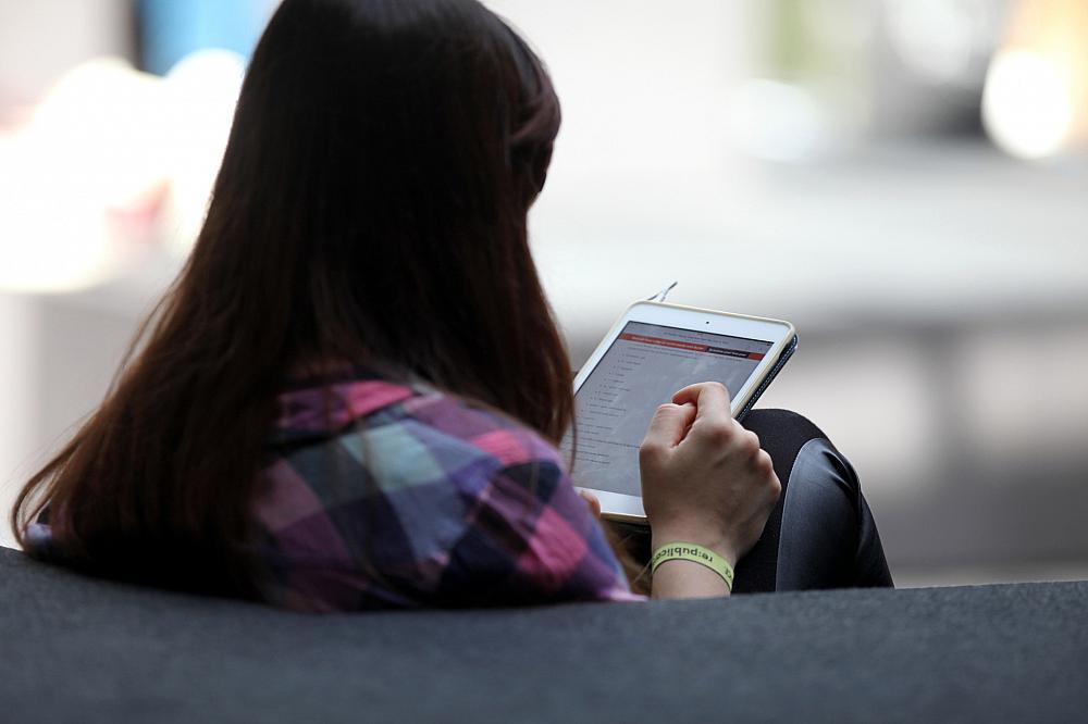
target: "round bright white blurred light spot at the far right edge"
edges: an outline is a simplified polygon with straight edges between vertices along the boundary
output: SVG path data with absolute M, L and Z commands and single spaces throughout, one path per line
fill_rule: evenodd
M 1060 70 L 1025 50 L 998 53 L 986 76 L 982 122 L 1002 150 L 1021 159 L 1059 152 L 1073 126 L 1074 103 Z

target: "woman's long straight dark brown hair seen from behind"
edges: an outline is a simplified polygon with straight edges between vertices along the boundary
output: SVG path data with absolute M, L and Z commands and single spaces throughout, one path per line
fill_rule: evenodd
M 23 488 L 18 541 L 45 510 L 75 565 L 254 595 L 276 394 L 322 363 L 422 377 L 558 442 L 570 366 L 526 228 L 558 127 L 540 60 L 474 0 L 285 0 L 191 257 Z

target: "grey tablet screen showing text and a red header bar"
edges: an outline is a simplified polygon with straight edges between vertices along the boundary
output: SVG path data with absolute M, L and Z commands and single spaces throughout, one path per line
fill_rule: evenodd
M 771 342 L 628 322 L 574 398 L 574 484 L 641 496 L 639 446 L 657 405 L 682 387 L 720 382 L 738 392 Z M 570 454 L 571 436 L 564 440 Z

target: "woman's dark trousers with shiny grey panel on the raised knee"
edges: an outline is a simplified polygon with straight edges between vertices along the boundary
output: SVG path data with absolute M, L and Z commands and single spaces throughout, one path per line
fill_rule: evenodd
M 857 475 L 827 436 L 788 410 L 753 410 L 743 424 L 774 460 L 782 496 L 737 564 L 733 592 L 892 586 Z M 646 528 L 615 527 L 629 556 L 645 563 Z

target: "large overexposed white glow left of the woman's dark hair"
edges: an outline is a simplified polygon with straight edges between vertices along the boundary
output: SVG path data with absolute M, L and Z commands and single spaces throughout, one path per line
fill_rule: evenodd
M 237 53 L 207 50 L 165 80 L 114 58 L 64 74 L 23 132 L 0 146 L 0 289 L 101 284 L 164 229 L 166 242 L 187 252 L 244 73 Z

